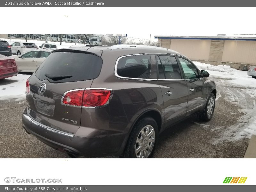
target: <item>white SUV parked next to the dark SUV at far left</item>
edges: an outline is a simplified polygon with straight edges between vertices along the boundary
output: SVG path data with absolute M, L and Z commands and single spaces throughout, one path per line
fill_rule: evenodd
M 26 53 L 28 51 L 37 50 L 38 47 L 34 43 L 14 42 L 11 45 L 11 49 L 12 49 L 12 54 L 21 55 L 21 54 Z

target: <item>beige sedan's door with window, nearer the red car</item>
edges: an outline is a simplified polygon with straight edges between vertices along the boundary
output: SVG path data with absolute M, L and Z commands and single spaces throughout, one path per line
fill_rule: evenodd
M 38 52 L 39 51 L 30 51 L 22 54 L 17 59 L 18 70 L 24 72 L 35 72 Z

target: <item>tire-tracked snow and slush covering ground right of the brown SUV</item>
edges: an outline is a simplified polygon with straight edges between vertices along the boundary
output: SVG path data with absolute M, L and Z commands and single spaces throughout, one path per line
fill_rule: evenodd
M 226 128 L 216 127 L 212 130 L 223 130 L 220 138 L 212 140 L 212 143 L 218 144 L 225 140 L 236 141 L 243 138 L 250 139 L 251 135 L 256 135 L 256 79 L 248 76 L 247 71 L 239 71 L 230 68 L 230 66 L 213 66 L 196 61 L 194 63 L 200 70 L 206 70 L 210 74 L 209 78 L 219 78 L 221 80 L 219 84 L 221 83 L 224 86 L 219 88 L 225 92 L 224 99 L 241 108 L 238 113 L 241 113 L 242 116 L 236 124 Z M 221 97 L 220 92 L 218 92 L 218 95 L 217 98 Z

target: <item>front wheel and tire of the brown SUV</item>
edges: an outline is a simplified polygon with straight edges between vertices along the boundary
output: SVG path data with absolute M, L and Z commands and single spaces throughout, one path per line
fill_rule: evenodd
M 208 106 L 209 106 L 209 111 L 208 111 Z M 202 114 L 199 116 L 199 118 L 203 121 L 210 121 L 213 116 L 213 112 L 215 109 L 215 95 L 213 93 L 210 94 L 210 97 L 208 98 L 204 111 Z

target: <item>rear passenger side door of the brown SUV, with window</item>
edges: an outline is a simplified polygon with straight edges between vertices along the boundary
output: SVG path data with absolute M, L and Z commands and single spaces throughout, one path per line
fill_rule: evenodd
M 164 127 L 183 119 L 187 112 L 188 86 L 174 55 L 156 55 L 157 79 L 164 101 Z

